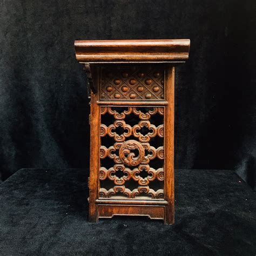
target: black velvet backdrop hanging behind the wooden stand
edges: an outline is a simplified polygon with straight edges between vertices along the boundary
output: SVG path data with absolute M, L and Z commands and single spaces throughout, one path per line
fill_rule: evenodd
M 176 69 L 176 168 L 233 169 L 254 184 L 254 0 L 2 0 L 0 12 L 3 179 L 89 166 L 75 39 L 190 38 Z

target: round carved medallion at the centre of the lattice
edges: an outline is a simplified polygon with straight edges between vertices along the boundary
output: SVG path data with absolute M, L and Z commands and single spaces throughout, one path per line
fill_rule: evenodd
M 137 140 L 127 140 L 120 147 L 119 158 L 121 161 L 129 166 L 139 165 L 145 158 L 145 150 L 141 143 Z

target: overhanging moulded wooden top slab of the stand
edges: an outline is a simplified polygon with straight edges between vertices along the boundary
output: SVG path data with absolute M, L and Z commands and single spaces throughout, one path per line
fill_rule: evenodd
M 79 62 L 185 62 L 189 39 L 75 41 Z

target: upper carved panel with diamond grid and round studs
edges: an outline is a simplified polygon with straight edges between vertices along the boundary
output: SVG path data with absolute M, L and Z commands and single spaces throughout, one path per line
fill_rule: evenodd
M 100 98 L 163 100 L 162 66 L 107 66 L 101 69 Z

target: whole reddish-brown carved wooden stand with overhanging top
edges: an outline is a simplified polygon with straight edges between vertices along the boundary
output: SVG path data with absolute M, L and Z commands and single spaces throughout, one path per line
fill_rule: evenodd
M 174 223 L 174 66 L 189 39 L 75 41 L 89 82 L 89 221 Z

